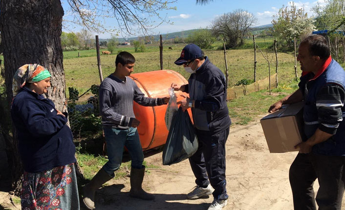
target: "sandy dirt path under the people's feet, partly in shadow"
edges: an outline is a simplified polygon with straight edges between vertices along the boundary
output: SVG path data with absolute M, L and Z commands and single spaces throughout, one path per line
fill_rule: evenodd
M 288 171 L 296 154 L 269 153 L 259 120 L 246 126 L 232 126 L 226 143 L 229 200 L 224 210 L 293 209 Z M 162 153 L 145 160 L 149 165 L 161 167 L 149 169 L 144 178 L 144 187 L 155 194 L 155 201 L 130 198 L 129 177 L 126 177 L 109 182 L 97 192 L 97 210 L 207 210 L 212 196 L 186 199 L 195 186 L 188 160 L 163 166 Z M 3 196 L 1 193 L 0 204 L 6 200 Z

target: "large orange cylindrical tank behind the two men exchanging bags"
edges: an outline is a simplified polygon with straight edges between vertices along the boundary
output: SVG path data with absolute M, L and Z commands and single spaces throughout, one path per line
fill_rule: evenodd
M 172 70 L 136 73 L 130 75 L 130 77 L 136 82 L 145 96 L 152 98 L 168 96 L 168 88 L 173 82 L 181 85 L 188 83 L 183 76 Z M 180 96 L 182 92 L 177 91 L 175 93 L 177 101 L 183 99 Z M 188 96 L 186 93 L 183 94 Z M 137 129 L 144 151 L 165 144 L 168 136 L 168 129 L 164 121 L 166 109 L 167 105 L 144 107 L 134 102 L 134 115 L 140 121 Z

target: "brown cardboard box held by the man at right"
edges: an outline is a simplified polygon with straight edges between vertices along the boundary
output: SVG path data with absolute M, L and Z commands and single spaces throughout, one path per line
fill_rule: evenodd
M 299 151 L 294 146 L 304 140 L 304 102 L 283 107 L 260 120 L 270 153 Z

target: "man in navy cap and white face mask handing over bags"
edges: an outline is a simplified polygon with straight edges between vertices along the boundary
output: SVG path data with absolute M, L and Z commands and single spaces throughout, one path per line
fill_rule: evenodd
M 189 93 L 190 97 L 185 96 L 179 104 L 183 110 L 192 109 L 199 142 L 197 152 L 189 158 L 197 186 L 187 194 L 187 198 L 197 199 L 213 194 L 214 201 L 208 210 L 221 210 L 228 199 L 225 143 L 231 125 L 226 103 L 225 77 L 195 44 L 185 46 L 175 64 L 183 65 L 191 74 L 188 84 L 173 83 L 172 87 L 175 91 Z

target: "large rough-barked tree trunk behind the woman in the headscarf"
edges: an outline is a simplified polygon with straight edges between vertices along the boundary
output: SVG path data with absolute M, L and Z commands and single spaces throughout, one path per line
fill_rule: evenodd
M 64 10 L 60 0 L 1 0 L 0 31 L 3 44 L 7 101 L 12 101 L 12 78 L 26 63 L 39 63 L 51 73 L 46 95 L 58 110 L 65 111 L 65 73 L 60 36 Z M 8 110 L 9 112 L 9 110 Z M 16 133 L 13 131 L 16 139 Z M 20 189 L 22 164 L 13 140 L 12 186 Z M 18 192 L 18 191 L 17 191 Z

